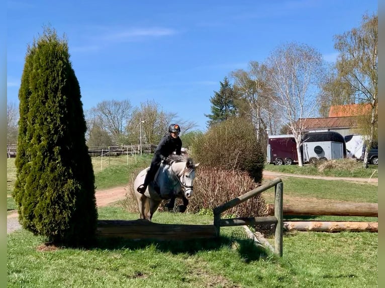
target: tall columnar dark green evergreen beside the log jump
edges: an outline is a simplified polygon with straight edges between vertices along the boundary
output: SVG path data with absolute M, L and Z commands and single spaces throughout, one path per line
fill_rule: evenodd
M 25 229 L 67 245 L 90 243 L 98 218 L 80 98 L 67 41 L 44 28 L 27 49 L 19 90 L 13 196 Z

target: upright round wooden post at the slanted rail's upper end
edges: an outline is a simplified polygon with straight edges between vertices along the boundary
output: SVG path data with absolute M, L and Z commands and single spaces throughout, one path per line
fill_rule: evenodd
M 275 253 L 282 257 L 283 254 L 283 182 L 275 185 L 275 209 L 274 216 L 277 218 L 274 235 Z

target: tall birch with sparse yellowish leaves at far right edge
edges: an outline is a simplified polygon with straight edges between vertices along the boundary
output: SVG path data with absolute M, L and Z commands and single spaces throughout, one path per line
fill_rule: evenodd
M 378 16 L 364 15 L 361 26 L 334 37 L 334 48 L 339 55 L 336 62 L 337 76 L 331 83 L 348 91 L 355 103 L 371 106 L 370 119 L 362 126 L 367 131 L 367 155 L 378 129 Z M 347 86 L 347 87 L 346 87 Z

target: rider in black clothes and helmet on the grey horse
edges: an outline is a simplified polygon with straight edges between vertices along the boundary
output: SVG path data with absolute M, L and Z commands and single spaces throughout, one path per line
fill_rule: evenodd
M 147 189 L 148 184 L 154 180 L 156 171 L 160 166 L 160 162 L 167 158 L 172 152 L 175 151 L 176 155 L 180 155 L 182 148 L 182 140 L 179 138 L 180 127 L 178 124 L 171 124 L 168 127 L 168 133 L 166 133 L 160 140 L 158 146 L 155 149 L 154 157 L 151 161 L 150 170 L 147 172 L 144 183 L 140 185 L 137 191 L 141 194 Z

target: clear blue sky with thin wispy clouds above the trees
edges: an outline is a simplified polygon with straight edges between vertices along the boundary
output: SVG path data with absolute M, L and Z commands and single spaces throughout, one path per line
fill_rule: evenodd
M 336 58 L 333 36 L 358 27 L 373 0 L 8 1 L 7 100 L 18 104 L 27 45 L 51 25 L 68 39 L 83 109 L 154 100 L 205 130 L 220 81 L 277 46 L 299 42 Z

